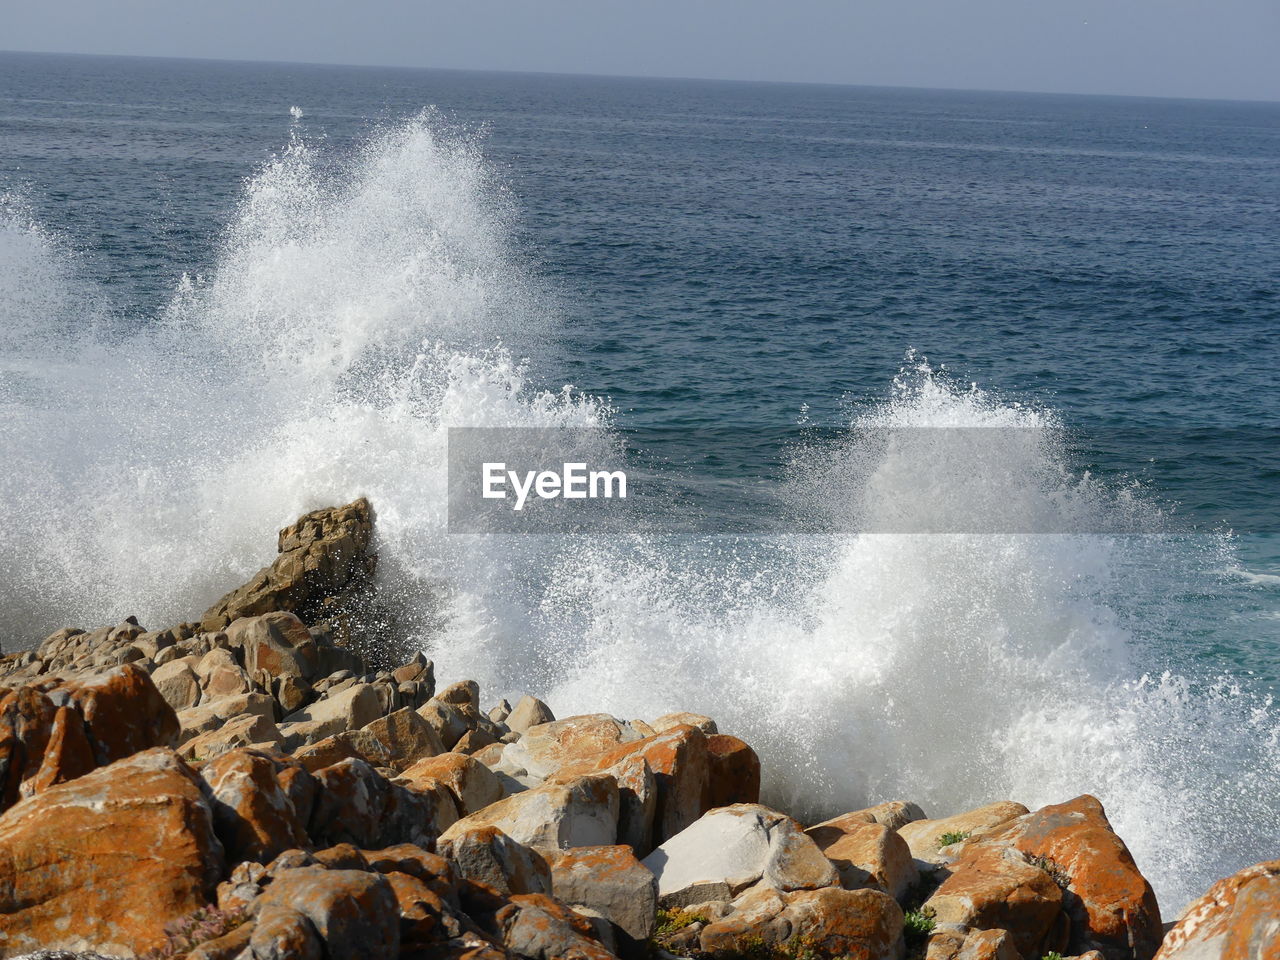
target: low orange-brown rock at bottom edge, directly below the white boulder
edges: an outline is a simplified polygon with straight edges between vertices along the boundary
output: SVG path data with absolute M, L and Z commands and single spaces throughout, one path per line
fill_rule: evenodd
M 753 890 L 699 934 L 703 952 L 744 955 L 799 943 L 819 960 L 895 960 L 905 952 L 902 910 L 878 890 Z

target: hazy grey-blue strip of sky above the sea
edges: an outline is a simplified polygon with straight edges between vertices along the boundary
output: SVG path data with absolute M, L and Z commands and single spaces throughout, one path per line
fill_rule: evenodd
M 0 49 L 1280 100 L 1280 0 L 0 0 Z

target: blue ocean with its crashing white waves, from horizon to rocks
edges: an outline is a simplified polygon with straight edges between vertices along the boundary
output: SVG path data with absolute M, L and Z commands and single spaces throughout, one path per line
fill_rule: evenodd
M 369 495 L 486 701 L 804 815 L 1092 792 L 1170 916 L 1280 854 L 1277 104 L 0 54 L 0 344 L 6 652 Z M 451 534 L 458 426 L 687 529 Z

